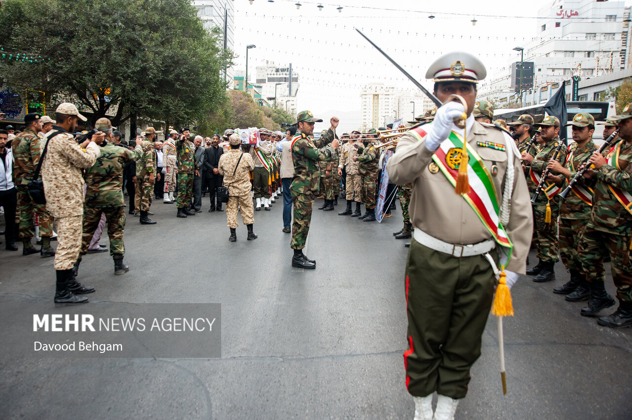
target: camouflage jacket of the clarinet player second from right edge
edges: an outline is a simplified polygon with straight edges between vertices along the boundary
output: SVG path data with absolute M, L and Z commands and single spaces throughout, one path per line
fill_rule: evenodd
M 593 154 L 597 148 L 595 147 L 595 143 L 592 140 L 589 140 L 588 143 L 581 149 L 577 147 L 577 143 L 571 144 L 569 148 L 568 161 L 566 162 L 566 168 L 571 170 L 571 178 L 575 176 L 575 171 L 578 170 L 582 163 L 584 163 L 590 156 Z M 568 187 L 569 180 L 562 177 L 562 188 Z M 592 180 L 587 180 L 584 177 L 581 177 L 578 180 L 577 184 L 581 187 L 592 187 L 594 182 Z M 584 202 L 577 194 L 574 192 L 569 192 L 566 195 L 565 200 L 560 200 L 560 212 L 559 216 L 564 219 L 573 219 L 573 220 L 588 220 L 590 218 L 590 204 Z

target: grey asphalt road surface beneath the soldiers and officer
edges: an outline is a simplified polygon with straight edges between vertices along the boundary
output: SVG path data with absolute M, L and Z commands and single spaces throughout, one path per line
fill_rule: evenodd
M 5 351 L 0 418 L 412 419 L 402 356 L 408 248 L 391 235 L 401 214 L 365 223 L 337 216 L 343 202 L 336 212 L 314 209 L 306 254 L 317 269 L 305 271 L 290 266 L 280 201 L 255 213 L 255 241 L 246 241 L 240 226 L 238 242 L 228 242 L 226 214 L 207 213 L 207 198 L 204 213 L 186 219 L 161 201 L 152 206 L 157 225 L 130 216 L 128 273 L 114 276 L 106 253 L 83 259 L 80 281 L 97 288 L 90 301 L 221 303 L 222 357 L 70 359 Z M 4 247 L 0 267 L 6 337 L 16 334 L 8 327 L 29 305 L 54 308 L 54 270 L 50 258 Z M 629 418 L 632 329 L 580 317 L 583 303 L 551 292 L 568 276 L 561 263 L 556 274 L 556 282 L 523 277 L 513 288 L 516 316 L 504 321 L 505 396 L 490 316 L 456 418 Z M 610 276 L 607 289 L 614 292 Z

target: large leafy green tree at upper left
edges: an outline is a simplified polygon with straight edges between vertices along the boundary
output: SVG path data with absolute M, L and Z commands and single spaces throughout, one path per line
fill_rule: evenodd
M 232 53 L 189 0 L 7 0 L 2 9 L 5 54 L 37 57 L 2 61 L 7 83 L 70 97 L 92 122 L 116 109 L 114 125 L 131 115 L 189 124 L 226 96 Z

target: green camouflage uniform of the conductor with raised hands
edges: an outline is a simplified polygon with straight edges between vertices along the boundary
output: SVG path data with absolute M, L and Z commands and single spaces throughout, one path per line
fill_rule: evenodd
M 334 132 L 327 132 L 320 139 L 308 138 L 300 130 L 293 137 L 292 160 L 294 163 L 294 178 L 290 185 L 294 205 L 294 221 L 292 224 L 293 249 L 305 248 L 307 234 L 310 231 L 312 207 L 319 195 L 320 170 L 319 161 L 331 161 L 336 158 L 336 151 L 330 143 L 334 139 Z

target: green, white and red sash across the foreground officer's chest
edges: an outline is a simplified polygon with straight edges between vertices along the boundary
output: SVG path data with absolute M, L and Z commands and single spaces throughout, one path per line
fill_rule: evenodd
M 421 140 L 427 133 L 423 127 L 417 127 L 410 131 L 413 136 Z M 451 132 L 450 136 L 441 143 L 439 149 L 432 156 L 434 163 L 439 166 L 441 172 L 446 175 L 447 180 L 456 186 L 456 178 L 458 177 L 459 167 L 455 165 L 447 165 L 448 153 L 451 149 L 463 149 L 463 139 L 455 132 Z M 494 237 L 494 240 L 502 247 L 513 248 L 511 240 L 502 226 L 500 221 L 500 202 L 496 193 L 496 187 L 492 177 L 485 167 L 480 156 L 473 147 L 467 148 L 468 159 L 468 178 L 470 180 L 470 192 L 461 194 L 461 197 L 470 205 L 474 213 L 477 214 L 483 226 Z

